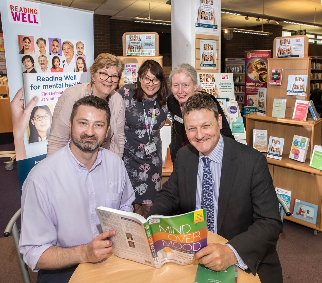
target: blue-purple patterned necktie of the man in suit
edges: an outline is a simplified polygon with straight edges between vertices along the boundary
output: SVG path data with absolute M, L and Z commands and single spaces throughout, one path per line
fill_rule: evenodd
M 206 209 L 207 227 L 209 231 L 214 231 L 213 225 L 213 179 L 210 171 L 211 160 L 208 157 L 203 157 L 204 168 L 202 171 L 202 190 L 201 190 L 201 208 Z

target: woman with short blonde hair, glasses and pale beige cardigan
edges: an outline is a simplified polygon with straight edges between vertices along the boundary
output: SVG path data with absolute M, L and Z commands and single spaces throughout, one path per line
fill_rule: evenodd
M 115 55 L 99 54 L 90 67 L 90 83 L 73 85 L 62 93 L 53 113 L 47 156 L 64 147 L 69 141 L 69 118 L 74 102 L 91 95 L 106 99 L 111 110 L 110 128 L 102 147 L 115 152 L 120 158 L 123 157 L 125 111 L 123 97 L 115 92 L 123 69 L 124 64 Z

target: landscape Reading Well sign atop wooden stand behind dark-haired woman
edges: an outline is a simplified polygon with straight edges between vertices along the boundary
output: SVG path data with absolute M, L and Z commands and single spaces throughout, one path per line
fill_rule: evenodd
M 155 41 L 154 34 L 126 34 L 126 56 L 155 56 Z

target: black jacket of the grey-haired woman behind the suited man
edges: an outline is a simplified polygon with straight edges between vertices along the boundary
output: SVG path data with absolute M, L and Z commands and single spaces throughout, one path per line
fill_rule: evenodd
M 211 98 L 213 99 L 214 102 L 216 102 L 218 112 L 223 117 L 223 129 L 220 130 L 220 133 L 222 135 L 224 135 L 225 137 L 229 137 L 234 140 L 235 138 L 232 135 L 232 130 L 229 127 L 229 124 L 227 122 L 225 114 L 223 113 L 223 109 L 221 108 L 218 100 L 214 96 L 211 96 Z M 180 110 L 179 102 L 175 99 L 173 94 L 171 94 L 168 97 L 167 106 L 168 106 L 168 109 L 169 109 L 169 112 L 171 115 L 171 119 L 172 119 L 172 122 L 171 122 L 171 142 L 169 145 L 170 156 L 171 156 L 172 164 L 175 164 L 175 157 L 177 155 L 177 152 L 178 152 L 179 148 L 182 148 L 183 136 L 185 134 L 185 124 L 180 123 L 174 119 L 175 115 L 182 118 L 182 113 Z

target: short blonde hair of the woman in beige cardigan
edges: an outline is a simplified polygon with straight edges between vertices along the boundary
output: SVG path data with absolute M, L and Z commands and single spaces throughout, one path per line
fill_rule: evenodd
M 116 69 L 118 71 L 118 75 L 121 76 L 122 72 L 124 70 L 124 64 L 113 54 L 109 53 L 101 53 L 99 54 L 96 59 L 94 60 L 93 65 L 90 67 L 90 83 L 93 83 L 92 77 L 97 72 L 98 69 L 108 69 L 111 66 L 116 66 Z

